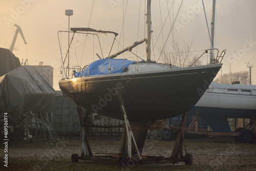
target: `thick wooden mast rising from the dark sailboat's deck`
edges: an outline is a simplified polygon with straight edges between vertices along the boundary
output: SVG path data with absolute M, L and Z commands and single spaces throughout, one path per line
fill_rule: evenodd
M 147 0 L 147 40 L 146 40 L 146 61 L 151 61 L 151 0 Z

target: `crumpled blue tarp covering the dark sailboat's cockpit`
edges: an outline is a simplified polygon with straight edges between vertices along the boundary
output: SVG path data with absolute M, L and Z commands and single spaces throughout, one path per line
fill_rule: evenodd
M 82 77 L 82 76 L 92 76 L 92 75 L 104 75 L 111 73 L 121 73 L 125 68 L 130 66 L 132 63 L 135 63 L 134 60 L 127 60 L 127 59 L 100 59 L 92 62 L 89 67 L 85 70 L 76 72 L 74 74 L 75 77 Z M 111 70 L 109 71 L 109 68 Z M 89 74 L 88 74 L 89 70 Z

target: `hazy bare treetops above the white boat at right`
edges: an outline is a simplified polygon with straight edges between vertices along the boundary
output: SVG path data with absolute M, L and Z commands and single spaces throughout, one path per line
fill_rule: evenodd
M 247 71 L 240 71 L 230 74 L 223 74 L 219 78 L 216 78 L 214 81 L 217 83 L 226 83 L 231 84 L 233 81 L 240 81 L 241 84 L 246 84 L 249 79 L 249 73 Z

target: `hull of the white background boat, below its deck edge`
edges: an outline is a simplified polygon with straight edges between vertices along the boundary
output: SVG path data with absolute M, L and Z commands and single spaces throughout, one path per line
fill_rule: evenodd
M 188 112 L 203 118 L 249 118 L 256 116 L 256 95 L 205 92 Z

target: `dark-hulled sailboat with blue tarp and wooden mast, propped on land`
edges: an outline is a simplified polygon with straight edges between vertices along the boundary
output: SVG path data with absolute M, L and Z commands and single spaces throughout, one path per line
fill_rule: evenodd
M 82 71 L 73 68 L 69 75 L 62 58 L 63 78 L 59 81 L 62 92 L 82 108 L 115 119 L 124 119 L 116 88 L 122 94 L 127 118 L 130 121 L 150 121 L 174 117 L 189 111 L 198 102 L 215 78 L 222 63 L 214 59 L 204 66 L 175 67 L 161 65 L 151 60 L 151 1 L 147 2 L 147 37 L 132 46 L 94 61 Z M 71 28 L 73 37 L 86 35 L 118 34 L 91 28 Z M 71 39 L 71 41 L 73 38 Z M 116 56 L 146 42 L 146 60 L 116 59 Z M 71 45 L 71 43 L 70 43 Z M 62 56 L 62 55 L 61 55 Z M 103 55 L 102 55 L 103 56 Z M 66 55 L 67 57 L 67 55 Z M 218 58 L 218 55 L 217 55 Z

